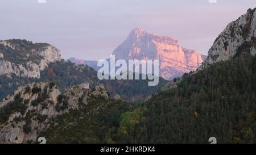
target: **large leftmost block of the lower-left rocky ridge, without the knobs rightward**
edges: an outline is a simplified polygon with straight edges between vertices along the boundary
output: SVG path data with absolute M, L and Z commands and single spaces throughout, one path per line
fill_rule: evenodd
M 49 126 L 47 120 L 59 114 L 54 103 L 59 94 L 56 85 L 50 88 L 46 82 L 19 87 L 13 96 L 0 103 L 0 111 L 5 111 L 4 114 L 8 118 L 0 121 L 0 143 L 35 141 L 37 133 Z M 15 109 L 11 104 L 19 107 Z M 11 108 L 10 114 L 6 111 L 7 107 Z

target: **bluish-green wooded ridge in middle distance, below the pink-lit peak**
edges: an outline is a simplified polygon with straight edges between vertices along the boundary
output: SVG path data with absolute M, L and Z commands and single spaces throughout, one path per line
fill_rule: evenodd
M 73 85 L 79 85 L 88 82 L 90 87 L 103 83 L 112 97 L 120 95 L 124 100 L 137 102 L 143 100 L 148 95 L 158 92 L 167 81 L 159 77 L 158 86 L 148 86 L 148 80 L 102 80 L 97 78 L 97 72 L 93 68 L 84 65 L 76 65 L 70 61 L 64 60 L 51 62 L 48 68 L 40 72 L 40 78 L 17 77 L 14 74 L 10 76 L 0 76 L 0 99 L 12 94 L 20 85 L 26 85 L 31 82 L 55 82 L 61 91 Z

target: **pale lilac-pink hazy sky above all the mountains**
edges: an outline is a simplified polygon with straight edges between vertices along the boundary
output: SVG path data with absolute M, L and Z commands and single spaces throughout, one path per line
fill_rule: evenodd
M 0 40 L 44 42 L 65 59 L 100 60 L 139 27 L 207 55 L 226 25 L 254 7 L 255 0 L 1 0 Z

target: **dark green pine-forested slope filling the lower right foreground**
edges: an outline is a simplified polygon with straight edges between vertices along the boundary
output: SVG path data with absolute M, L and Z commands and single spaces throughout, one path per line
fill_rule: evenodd
M 49 143 L 208 143 L 209 137 L 217 143 L 255 143 L 255 92 L 256 56 L 238 56 L 184 78 L 138 107 L 96 99 L 90 105 L 106 102 L 108 108 L 84 119 L 61 116 L 61 125 L 42 136 L 51 137 Z

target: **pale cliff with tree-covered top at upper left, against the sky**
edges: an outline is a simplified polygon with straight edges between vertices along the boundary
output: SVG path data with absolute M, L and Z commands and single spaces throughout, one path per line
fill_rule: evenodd
M 49 44 L 33 44 L 26 40 L 0 41 L 0 76 L 40 78 L 40 70 L 49 62 L 60 61 L 59 49 Z

